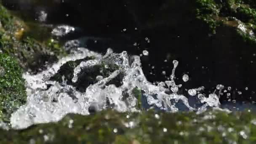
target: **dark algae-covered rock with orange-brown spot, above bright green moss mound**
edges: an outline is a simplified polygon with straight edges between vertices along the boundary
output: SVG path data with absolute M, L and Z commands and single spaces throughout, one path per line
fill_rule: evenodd
M 0 4 L 1 53 L 16 57 L 21 67 L 37 72 L 45 68 L 45 63 L 56 61 L 65 52 L 56 40 L 48 38 L 39 42 L 32 38 L 33 35 L 30 37 L 29 32 L 38 30 L 31 29 L 30 25 L 13 16 Z

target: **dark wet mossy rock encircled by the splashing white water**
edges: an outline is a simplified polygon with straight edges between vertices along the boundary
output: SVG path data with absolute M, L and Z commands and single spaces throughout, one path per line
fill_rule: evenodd
M 59 83 L 63 82 L 62 77 L 64 80 L 67 80 L 68 85 L 73 85 L 77 88 L 78 91 L 85 92 L 86 88 L 97 82 L 96 77 L 101 75 L 103 78 L 109 77 L 115 70 L 119 67 L 116 64 L 112 64 L 109 61 L 101 61 L 99 64 L 94 65 L 93 67 L 85 67 L 81 70 L 81 72 L 77 76 L 77 82 L 73 83 L 72 78 L 74 74 L 74 69 L 82 62 L 86 62 L 88 60 L 93 60 L 95 57 L 89 56 L 85 59 L 79 59 L 76 61 L 68 61 L 63 64 L 58 72 L 50 78 L 52 81 L 58 81 Z M 106 66 L 107 65 L 107 66 Z M 111 80 L 109 84 L 115 84 L 120 86 L 122 81 L 123 75 L 118 75 L 114 80 Z

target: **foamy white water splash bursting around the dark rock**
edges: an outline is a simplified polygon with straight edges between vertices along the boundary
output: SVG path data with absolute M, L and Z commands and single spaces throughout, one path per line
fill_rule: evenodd
M 61 120 L 67 113 L 77 113 L 88 115 L 90 112 L 113 108 L 119 112 L 138 112 L 138 101 L 142 103 L 143 109 L 155 108 L 166 112 L 178 112 L 181 107 L 186 107 L 189 111 L 203 112 L 207 107 L 218 107 L 219 97 L 212 93 L 207 98 L 203 94 L 198 94 L 198 99 L 203 104 L 202 107 L 192 107 L 189 105 L 187 97 L 178 94 L 182 85 L 175 83 L 175 69 L 179 62 L 173 61 L 173 70 L 170 81 L 159 83 L 157 86 L 147 81 L 141 68 L 139 56 L 128 56 L 126 51 L 114 53 L 108 49 L 102 56 L 99 53 L 79 48 L 79 51 L 61 59 L 51 68 L 37 75 L 25 73 L 23 77 L 27 81 L 27 104 L 20 107 L 11 116 L 12 128 L 27 128 L 29 125 L 37 123 L 48 123 Z M 96 83 L 89 85 L 85 92 L 77 91 L 72 85 L 67 85 L 63 78 L 62 83 L 50 81 L 49 77 L 56 74 L 61 65 L 67 61 L 84 59 L 86 56 L 93 56 L 95 59 L 82 61 L 75 69 L 72 82 L 78 80 L 80 72 L 84 68 L 90 69 L 102 61 L 116 64 L 118 69 L 108 77 L 95 77 Z M 122 85 L 107 85 L 122 73 Z M 141 93 L 141 98 L 135 96 L 133 92 L 137 89 Z M 198 88 L 196 91 L 201 91 Z

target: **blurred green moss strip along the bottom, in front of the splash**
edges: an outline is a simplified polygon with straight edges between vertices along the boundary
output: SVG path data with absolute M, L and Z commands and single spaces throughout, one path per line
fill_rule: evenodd
M 25 130 L 0 130 L 1 144 L 253 144 L 256 115 L 251 112 L 69 114 L 58 123 Z

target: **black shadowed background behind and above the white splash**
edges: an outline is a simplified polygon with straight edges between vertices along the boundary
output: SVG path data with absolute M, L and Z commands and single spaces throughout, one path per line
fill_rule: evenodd
M 208 93 L 222 84 L 232 87 L 232 99 L 256 101 L 256 48 L 245 45 L 228 28 L 219 28 L 211 35 L 208 27 L 192 18 L 193 11 L 187 9 L 186 0 L 3 2 L 27 21 L 37 22 L 40 11 L 45 11 L 48 17 L 43 24 L 69 24 L 79 29 L 64 40 L 99 37 L 91 38 L 84 45 L 93 51 L 104 53 L 109 47 L 131 55 L 149 51 L 149 56 L 142 56 L 141 60 L 144 74 L 151 82 L 166 80 L 176 59 L 179 61 L 176 83 L 183 84 L 183 88 L 204 86 Z M 181 79 L 183 74 L 189 75 L 187 83 Z M 243 94 L 239 95 L 238 91 Z

